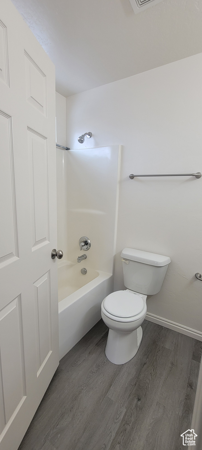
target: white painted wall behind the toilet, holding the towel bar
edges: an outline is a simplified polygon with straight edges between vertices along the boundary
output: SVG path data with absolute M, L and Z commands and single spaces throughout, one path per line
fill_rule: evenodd
M 76 94 L 66 108 L 71 148 L 86 131 L 92 147 L 123 145 L 114 289 L 124 288 L 123 247 L 170 256 L 148 311 L 202 332 L 202 178 L 128 178 L 202 171 L 202 54 Z

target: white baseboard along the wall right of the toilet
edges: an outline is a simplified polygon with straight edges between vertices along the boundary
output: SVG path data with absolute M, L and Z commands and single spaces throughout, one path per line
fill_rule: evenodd
M 198 341 L 202 341 L 202 332 L 193 330 L 192 328 L 185 327 L 184 325 L 176 324 L 176 322 L 172 322 L 171 320 L 164 319 L 163 317 L 159 317 L 158 315 L 147 313 L 146 320 L 150 322 L 154 322 L 154 324 L 162 325 L 162 327 L 169 328 L 171 330 L 177 331 L 178 333 L 185 334 L 190 338 L 198 339 Z

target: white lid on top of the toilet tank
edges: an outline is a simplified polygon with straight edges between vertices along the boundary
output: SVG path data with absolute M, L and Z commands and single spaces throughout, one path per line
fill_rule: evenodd
M 129 259 L 130 261 L 143 262 L 150 266 L 167 266 L 171 262 L 168 256 L 157 255 L 156 253 L 143 252 L 135 248 L 124 248 L 121 252 L 121 257 Z

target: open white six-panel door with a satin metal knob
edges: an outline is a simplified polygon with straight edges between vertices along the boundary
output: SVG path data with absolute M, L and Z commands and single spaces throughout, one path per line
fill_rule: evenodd
M 57 368 L 55 70 L 0 0 L 0 449 L 17 450 Z

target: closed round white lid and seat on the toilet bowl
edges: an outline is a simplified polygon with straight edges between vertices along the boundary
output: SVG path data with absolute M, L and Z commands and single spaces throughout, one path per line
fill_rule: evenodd
M 135 297 L 134 297 L 135 296 Z M 146 314 L 146 303 L 136 293 L 116 291 L 105 297 L 101 311 L 118 322 L 133 322 Z

